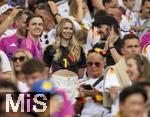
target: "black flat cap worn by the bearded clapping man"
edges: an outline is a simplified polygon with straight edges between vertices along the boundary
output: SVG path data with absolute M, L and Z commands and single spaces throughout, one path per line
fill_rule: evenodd
M 117 20 L 114 17 L 108 16 L 108 15 L 97 17 L 95 19 L 95 21 L 93 22 L 94 26 L 99 26 L 99 25 L 102 25 L 102 24 L 119 27 L 119 24 L 118 24 Z

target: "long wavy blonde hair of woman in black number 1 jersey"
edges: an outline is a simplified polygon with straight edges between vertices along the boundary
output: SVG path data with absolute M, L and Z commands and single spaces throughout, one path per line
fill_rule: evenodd
M 73 27 L 72 28 L 73 29 L 73 36 L 70 39 L 67 48 L 69 50 L 69 53 L 72 54 L 76 58 L 76 60 L 79 60 L 80 52 L 81 52 L 81 46 L 80 46 L 80 44 L 78 42 L 78 39 L 76 37 L 76 31 L 75 31 L 75 27 L 73 25 L 73 22 L 68 18 L 62 19 L 60 21 L 60 23 L 58 24 L 58 26 L 57 26 L 56 41 L 53 44 L 53 47 L 56 50 L 56 54 L 54 55 L 54 59 L 58 60 L 60 58 L 60 56 L 62 55 L 62 51 L 60 49 L 61 40 L 62 40 L 61 34 L 62 34 L 62 31 L 63 31 L 63 26 L 65 25 L 66 22 L 71 23 L 72 27 Z

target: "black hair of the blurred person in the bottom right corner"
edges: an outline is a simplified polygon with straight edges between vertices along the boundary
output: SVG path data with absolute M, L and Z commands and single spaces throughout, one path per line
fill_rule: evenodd
M 147 93 L 144 90 L 144 88 L 142 88 L 141 86 L 137 86 L 137 85 L 132 85 L 130 87 L 125 88 L 119 95 L 119 101 L 120 103 L 124 103 L 126 101 L 126 99 L 134 94 L 140 94 L 143 96 L 144 98 L 144 102 L 147 101 L 148 97 L 147 97 Z

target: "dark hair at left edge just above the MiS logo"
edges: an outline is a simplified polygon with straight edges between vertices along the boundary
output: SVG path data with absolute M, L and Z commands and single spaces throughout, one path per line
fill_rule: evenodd
M 13 82 L 4 79 L 0 80 L 0 89 L 1 88 L 12 89 L 13 92 L 19 92 L 19 89 Z

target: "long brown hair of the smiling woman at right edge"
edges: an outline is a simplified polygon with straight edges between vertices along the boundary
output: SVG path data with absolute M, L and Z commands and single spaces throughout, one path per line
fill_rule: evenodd
M 143 55 L 132 55 L 128 59 L 134 59 L 136 61 L 139 78 L 150 81 L 150 63 L 148 59 Z

